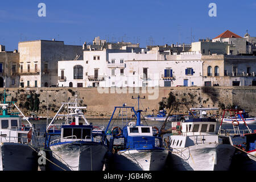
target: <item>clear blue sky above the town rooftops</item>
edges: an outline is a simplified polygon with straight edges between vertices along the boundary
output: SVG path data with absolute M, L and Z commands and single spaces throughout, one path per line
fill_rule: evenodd
M 46 3 L 46 17 L 38 4 Z M 217 17 L 210 17 L 209 3 L 216 3 Z M 25 40 L 63 40 L 81 45 L 95 36 L 112 41 L 139 42 L 142 47 L 214 38 L 225 30 L 256 36 L 256 1 L 108 0 L 2 1 L 0 44 L 8 51 Z

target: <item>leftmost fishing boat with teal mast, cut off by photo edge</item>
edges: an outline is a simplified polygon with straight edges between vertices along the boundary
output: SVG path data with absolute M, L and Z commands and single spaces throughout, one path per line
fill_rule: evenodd
M 19 110 L 15 102 L 6 101 L 6 90 L 0 115 L 0 170 L 1 171 L 37 171 L 38 170 L 38 140 L 36 130 L 27 120 L 28 124 L 21 122 Z M 10 96 L 10 95 L 9 95 Z M 9 112 L 12 105 L 19 113 Z

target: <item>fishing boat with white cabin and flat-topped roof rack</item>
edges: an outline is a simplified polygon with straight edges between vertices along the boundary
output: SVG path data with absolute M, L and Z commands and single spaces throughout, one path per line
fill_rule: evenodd
M 207 110 L 200 110 L 199 118 L 181 123 L 181 134 L 171 135 L 172 165 L 181 171 L 225 171 L 229 170 L 236 148 L 230 136 L 216 134 L 217 121 L 207 117 Z

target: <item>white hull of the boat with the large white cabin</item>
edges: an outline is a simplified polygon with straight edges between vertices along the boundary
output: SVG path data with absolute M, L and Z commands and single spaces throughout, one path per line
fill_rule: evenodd
M 179 171 L 229 170 L 235 148 L 230 144 L 200 144 L 172 151 L 172 165 Z

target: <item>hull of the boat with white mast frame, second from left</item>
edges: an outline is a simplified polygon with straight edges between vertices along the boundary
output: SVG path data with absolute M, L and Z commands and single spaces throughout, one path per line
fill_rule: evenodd
M 51 171 L 102 171 L 108 148 L 102 144 L 58 144 L 49 147 Z M 53 164 L 54 163 L 54 164 Z

